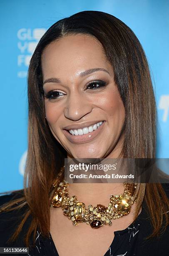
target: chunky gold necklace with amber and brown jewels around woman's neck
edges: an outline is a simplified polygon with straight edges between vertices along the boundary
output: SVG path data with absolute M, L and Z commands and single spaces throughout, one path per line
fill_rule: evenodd
M 61 176 L 61 174 L 59 174 Z M 137 184 L 129 184 L 124 182 L 124 193 L 120 195 L 111 195 L 110 202 L 106 207 L 104 205 L 85 207 L 83 202 L 79 202 L 77 197 L 68 194 L 68 182 L 60 180 L 59 176 L 54 182 L 53 187 L 57 187 L 55 195 L 51 202 L 51 207 L 62 207 L 63 214 L 77 226 L 77 223 L 85 222 L 92 228 L 100 228 L 104 225 L 112 225 L 112 219 L 118 219 L 124 215 L 128 215 L 131 206 L 136 202 L 135 192 Z M 57 184 L 59 183 L 59 186 Z

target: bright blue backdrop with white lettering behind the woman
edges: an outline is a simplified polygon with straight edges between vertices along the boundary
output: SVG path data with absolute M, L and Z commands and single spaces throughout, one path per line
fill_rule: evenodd
M 0 192 L 23 188 L 27 157 L 27 69 L 45 31 L 83 10 L 110 13 L 136 34 L 157 101 L 157 157 L 169 158 L 169 2 L 167 0 L 0 1 Z M 169 170 L 166 167 L 166 172 Z

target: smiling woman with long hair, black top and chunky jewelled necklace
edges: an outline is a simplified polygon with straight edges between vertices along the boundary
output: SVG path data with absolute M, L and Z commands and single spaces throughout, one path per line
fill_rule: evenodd
M 130 207 L 120 215 L 107 205 L 120 200 L 123 183 L 63 180 L 65 158 L 156 156 L 152 82 L 131 29 L 99 11 L 59 20 L 30 61 L 28 102 L 25 189 L 0 199 L 0 246 L 29 246 L 31 256 L 169 255 L 168 184 L 128 185 Z M 78 227 L 73 195 L 89 216 Z

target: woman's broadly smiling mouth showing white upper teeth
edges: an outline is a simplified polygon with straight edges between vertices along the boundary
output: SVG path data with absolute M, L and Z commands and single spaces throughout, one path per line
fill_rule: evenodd
M 102 131 L 105 122 L 106 121 L 101 121 L 97 124 L 91 125 L 83 129 L 63 129 L 63 133 L 65 134 L 66 138 L 72 143 L 86 143 L 94 139 Z

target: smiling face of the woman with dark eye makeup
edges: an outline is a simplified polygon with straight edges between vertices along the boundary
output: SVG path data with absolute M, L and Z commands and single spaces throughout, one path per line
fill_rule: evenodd
M 125 111 L 99 41 L 70 35 L 52 42 L 42 72 L 46 120 L 67 155 L 118 157 Z

